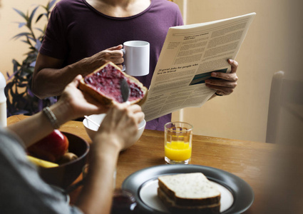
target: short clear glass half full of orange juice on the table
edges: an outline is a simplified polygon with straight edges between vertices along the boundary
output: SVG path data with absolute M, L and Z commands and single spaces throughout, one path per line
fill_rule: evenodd
M 188 164 L 192 156 L 192 125 L 185 122 L 170 122 L 164 126 L 165 162 Z

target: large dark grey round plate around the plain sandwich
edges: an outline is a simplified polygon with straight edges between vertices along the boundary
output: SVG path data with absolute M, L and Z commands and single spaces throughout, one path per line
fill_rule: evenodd
M 153 182 L 160 175 L 176 173 L 203 173 L 209 180 L 222 185 L 230 191 L 233 197 L 233 203 L 222 214 L 243 213 L 250 208 L 254 201 L 252 188 L 245 180 L 228 173 L 225 170 L 212 168 L 204 165 L 157 165 L 150 168 L 144 168 L 131 174 L 123 181 L 122 188 L 132 191 L 138 202 L 139 213 L 157 213 L 167 214 L 159 211 L 158 208 L 152 208 L 146 205 L 140 197 L 140 190 L 145 184 Z

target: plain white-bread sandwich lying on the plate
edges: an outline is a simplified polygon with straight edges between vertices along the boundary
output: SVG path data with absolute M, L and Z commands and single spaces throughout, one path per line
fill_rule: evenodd
M 220 213 L 221 193 L 202 173 L 163 175 L 158 185 L 158 197 L 174 213 Z

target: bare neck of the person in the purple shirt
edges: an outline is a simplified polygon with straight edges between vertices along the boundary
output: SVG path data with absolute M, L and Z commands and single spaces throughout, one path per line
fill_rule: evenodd
M 94 9 L 113 17 L 140 14 L 150 6 L 151 0 L 86 0 Z

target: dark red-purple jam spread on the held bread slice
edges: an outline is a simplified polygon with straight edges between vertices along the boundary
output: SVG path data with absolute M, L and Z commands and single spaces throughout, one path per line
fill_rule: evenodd
M 108 64 L 98 72 L 92 73 L 84 78 L 84 82 L 91 86 L 102 95 L 113 99 L 119 103 L 123 103 L 120 91 L 120 80 L 125 78 L 130 87 L 130 96 L 128 101 L 135 101 L 143 98 L 143 91 L 137 83 L 130 82 L 117 68 Z

